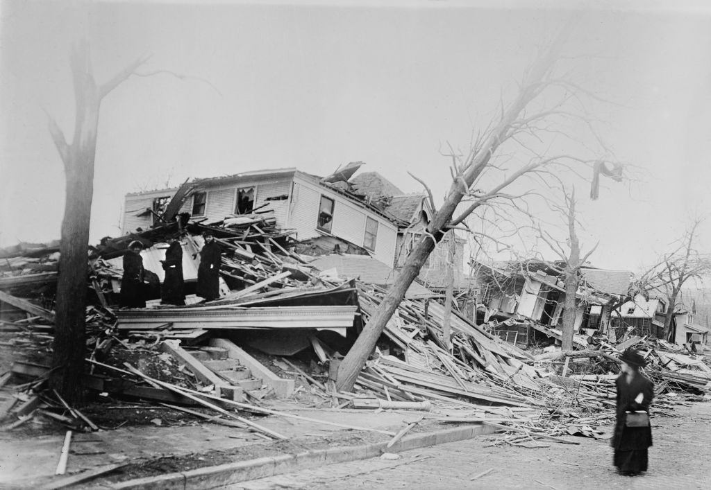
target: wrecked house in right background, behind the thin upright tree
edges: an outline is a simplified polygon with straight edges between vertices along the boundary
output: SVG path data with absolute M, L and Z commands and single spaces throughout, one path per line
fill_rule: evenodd
M 540 332 L 560 340 L 565 284 L 560 264 L 545 261 L 478 264 L 479 320 L 500 336 L 528 344 Z M 574 332 L 604 332 L 612 308 L 626 297 L 631 273 L 583 268 L 576 292 Z M 540 337 L 540 336 L 538 336 Z M 584 337 L 575 340 L 584 345 Z

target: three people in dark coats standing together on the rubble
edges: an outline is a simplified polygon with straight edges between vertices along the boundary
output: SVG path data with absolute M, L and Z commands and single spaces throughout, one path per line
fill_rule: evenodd
M 205 301 L 220 298 L 220 246 L 209 232 L 203 234 L 205 245 L 200 251 L 196 295 Z M 185 281 L 183 279 L 183 247 L 179 236 L 168 240 L 166 258 L 161 261 L 165 278 L 161 286 L 162 305 L 185 305 Z M 146 270 L 141 258 L 143 244 L 134 240 L 124 254 L 124 275 L 121 279 L 119 305 L 125 308 L 146 307 Z

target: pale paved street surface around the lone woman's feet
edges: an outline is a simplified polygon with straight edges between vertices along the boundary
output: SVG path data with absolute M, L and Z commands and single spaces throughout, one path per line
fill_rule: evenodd
M 542 447 L 525 448 L 503 442 L 504 435 L 493 435 L 404 452 L 398 459 L 331 464 L 230 488 L 708 489 L 711 402 L 678 405 L 674 413 L 674 417 L 653 419 L 649 471 L 638 477 L 616 474 L 607 440 L 568 437 L 579 444 L 538 440 Z M 611 427 L 606 430 L 609 432 Z

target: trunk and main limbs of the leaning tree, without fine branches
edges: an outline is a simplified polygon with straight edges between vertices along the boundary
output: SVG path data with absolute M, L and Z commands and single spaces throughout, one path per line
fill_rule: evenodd
M 488 137 L 483 141 L 481 147 L 471 152 L 469 158 L 460 169 L 459 175 L 449 188 L 444 204 L 440 209 L 434 212 L 432 221 L 427 225 L 426 233 L 422 234 L 415 248 L 410 252 L 410 255 L 407 256 L 405 266 L 403 266 L 402 271 L 400 271 L 400 274 L 397 276 L 395 283 L 387 290 L 385 298 L 383 298 L 383 302 L 380 303 L 380 307 L 378 307 L 375 315 L 370 317 L 370 320 L 363 328 L 363 332 L 360 333 L 355 344 L 351 347 L 351 350 L 349 350 L 346 357 L 343 358 L 341 366 L 338 368 L 338 379 L 336 381 L 336 387 L 339 390 L 349 391 L 353 387 L 353 383 L 355 383 L 355 379 L 358 378 L 360 369 L 363 368 L 368 356 L 373 352 L 375 343 L 378 342 L 380 334 L 383 333 L 387 321 L 390 320 L 390 317 L 392 317 L 392 314 L 397 309 L 402 298 L 405 297 L 407 288 L 410 287 L 412 281 L 417 277 L 420 268 L 422 268 L 425 259 L 427 259 L 427 256 L 429 256 L 430 252 L 434 249 L 436 242 L 442 240 L 442 236 L 444 232 L 447 232 L 449 226 L 459 224 L 466 216 L 471 214 L 474 209 L 484 205 L 488 199 L 491 199 L 491 196 L 498 195 L 498 192 L 501 192 L 503 188 L 506 188 L 510 183 L 520 178 L 521 175 L 535 168 L 535 165 L 529 165 L 508 175 L 508 178 L 506 178 L 503 183 L 496 186 L 485 196 L 476 200 L 459 218 L 452 220 L 452 216 L 454 215 L 457 205 L 461 202 L 462 197 L 464 197 L 466 192 L 469 192 L 471 185 L 479 178 L 483 170 L 487 168 L 491 157 L 498 147 L 501 146 L 501 143 L 508 139 L 515 121 L 520 114 L 523 113 L 525 107 L 540 94 L 543 88 L 542 81 L 557 56 L 557 48 L 558 43 L 555 43 L 551 50 L 533 66 L 530 71 L 530 83 L 523 87 L 513 104 L 501 114 L 500 121 L 498 121 L 498 124 L 496 124 Z M 432 205 L 432 207 L 434 209 L 434 205 Z

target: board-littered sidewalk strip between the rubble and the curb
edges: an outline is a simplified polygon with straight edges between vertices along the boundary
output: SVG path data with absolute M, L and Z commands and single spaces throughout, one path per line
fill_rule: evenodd
M 13 438 L 12 432 L 0 432 L 0 447 L 3 448 L 0 452 L 0 488 L 34 489 L 73 474 L 111 464 L 126 466 L 105 477 L 92 479 L 86 484 L 87 487 L 97 488 L 97 485 L 102 485 L 109 488 L 183 488 L 183 482 L 187 481 L 191 472 L 201 474 L 203 481 L 227 476 L 232 482 L 245 481 L 294 471 L 296 468 L 309 467 L 309 464 L 326 464 L 378 455 L 385 449 L 393 434 L 421 415 L 425 415 L 424 420 L 403 437 L 402 441 L 409 441 L 405 442 L 406 445 L 424 447 L 493 432 L 481 425 L 474 426 L 473 429 L 473 426 L 452 428 L 451 425 L 437 423 L 432 418 L 440 414 L 435 412 L 387 410 L 374 413 L 372 410 L 321 410 L 294 406 L 281 409 L 294 415 L 370 430 L 348 430 L 305 420 L 269 416 L 253 420 L 289 437 L 288 440 L 266 441 L 240 428 L 210 423 L 167 427 L 146 425 L 111 431 L 77 432 L 73 434 L 68 471 L 64 477 L 54 476 L 64 433 L 17 440 Z M 402 446 L 395 445 L 387 451 L 397 452 L 401 448 Z M 274 460 L 274 456 L 278 457 L 279 464 Z M 241 466 L 235 467 L 237 463 Z M 223 468 L 216 472 L 205 469 L 206 466 L 219 465 L 223 465 Z M 180 476 L 181 474 L 183 476 Z M 144 486 L 113 486 L 117 481 L 153 475 L 162 475 L 160 484 L 155 482 L 146 483 Z M 191 485 L 191 488 L 196 486 Z

